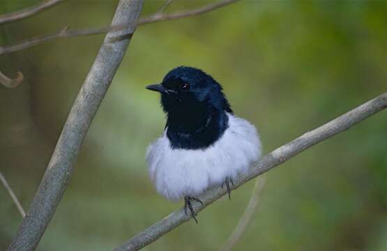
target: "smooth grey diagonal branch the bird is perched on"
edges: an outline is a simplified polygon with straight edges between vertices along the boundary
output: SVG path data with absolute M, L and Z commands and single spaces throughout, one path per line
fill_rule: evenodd
M 367 117 L 380 112 L 382 109 L 387 107 L 387 93 L 384 93 L 377 98 L 374 98 L 368 102 L 365 102 L 363 105 L 352 109 L 346 114 L 333 119 L 323 126 L 316 128 L 310 132 L 306 132 L 304 135 L 294 139 L 293 141 L 285 144 L 284 146 L 280 146 L 278 149 L 275 149 L 271 153 L 268 153 L 263 158 L 261 158 L 258 162 L 252 165 L 249 173 L 245 176 L 240 176 L 236 181 L 234 181 L 234 188 L 238 188 L 240 185 L 250 181 L 252 178 L 257 177 L 264 172 L 276 167 L 283 162 L 289 160 L 294 155 L 305 151 L 310 148 L 310 146 L 314 146 L 319 142 L 336 135 L 337 133 L 343 132 L 351 128 L 352 126 L 360 123 Z M 211 188 L 208 191 L 204 192 L 199 199 L 203 201 L 204 206 L 195 201 L 192 203 L 194 206 L 195 212 L 202 211 L 206 206 L 213 203 L 223 195 L 225 195 L 226 191 L 222 188 Z M 130 238 L 126 243 L 123 243 L 119 248 L 116 248 L 116 251 L 122 250 L 139 250 L 140 248 L 144 248 L 149 243 L 156 241 L 158 238 L 167 234 L 167 232 L 172 229 L 179 227 L 179 225 L 184 222 L 188 222 L 190 220 L 190 215 L 185 215 L 184 208 L 180 208 L 177 211 L 169 214 L 166 218 L 156 222 L 151 225 L 141 233 Z

